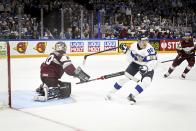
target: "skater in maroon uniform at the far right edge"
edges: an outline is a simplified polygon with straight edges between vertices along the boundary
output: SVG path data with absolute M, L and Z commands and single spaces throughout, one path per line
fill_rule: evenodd
M 188 62 L 188 65 L 186 66 L 181 75 L 181 78 L 185 79 L 186 74 L 195 64 L 195 49 L 196 46 L 194 46 L 193 39 L 191 38 L 191 36 L 188 35 L 183 37 L 183 40 L 176 47 L 178 55 L 174 59 L 171 67 L 169 67 L 167 73 L 164 74 L 164 77 L 168 77 L 177 66 L 179 66 L 184 60 L 186 60 Z

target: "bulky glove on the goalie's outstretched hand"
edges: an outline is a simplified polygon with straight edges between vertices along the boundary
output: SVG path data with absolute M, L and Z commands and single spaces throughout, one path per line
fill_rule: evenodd
M 86 74 L 81 67 L 75 70 L 76 77 L 80 79 L 80 82 L 86 82 L 90 79 L 90 76 Z

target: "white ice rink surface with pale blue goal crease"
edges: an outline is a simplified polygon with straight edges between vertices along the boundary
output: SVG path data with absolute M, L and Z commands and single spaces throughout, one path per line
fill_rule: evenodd
M 175 58 L 176 54 L 159 54 L 159 60 Z M 70 57 L 91 78 L 123 71 L 128 62 L 124 55 Z M 187 62 L 170 76 L 163 78 L 171 62 L 158 64 L 153 82 L 129 105 L 125 98 L 135 87 L 130 81 L 113 101 L 105 101 L 107 92 L 120 77 L 76 85 L 79 80 L 64 75 L 62 81 L 72 82 L 68 99 L 34 102 L 35 89 L 41 84 L 40 64 L 45 58 L 12 59 L 13 109 L 0 111 L 2 131 L 195 131 L 196 130 L 196 68 L 185 80 L 180 79 Z M 124 77 L 124 76 L 121 76 Z M 136 77 L 139 78 L 139 75 Z

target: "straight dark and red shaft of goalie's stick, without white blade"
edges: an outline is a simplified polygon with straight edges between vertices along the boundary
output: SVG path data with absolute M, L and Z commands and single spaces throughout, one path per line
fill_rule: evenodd
M 122 76 L 124 74 L 125 74 L 124 71 L 120 71 L 120 72 L 111 73 L 111 74 L 108 74 L 108 75 L 103 75 L 101 77 L 94 78 L 94 79 L 91 79 L 91 80 L 88 80 L 88 81 L 78 82 L 76 84 L 83 84 L 83 83 L 87 83 L 87 82 L 91 82 L 91 81 L 95 81 L 95 80 L 105 80 L 105 79 L 109 79 L 109 78 L 113 78 L 113 77 L 117 77 L 117 76 Z

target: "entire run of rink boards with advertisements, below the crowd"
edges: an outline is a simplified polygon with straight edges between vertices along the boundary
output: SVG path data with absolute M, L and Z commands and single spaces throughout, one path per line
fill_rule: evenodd
M 10 51 L 12 58 L 28 58 L 28 57 L 43 57 L 47 56 L 54 50 L 54 45 L 58 41 L 63 41 L 67 45 L 67 54 L 70 56 L 82 56 L 89 53 L 107 50 L 110 48 L 118 47 L 119 44 L 124 43 L 130 46 L 132 43 L 137 42 L 133 40 L 18 40 L 8 41 L 10 44 Z M 176 46 L 179 44 L 180 39 L 151 39 L 150 44 L 159 53 L 175 52 Z M 117 48 L 111 51 L 101 53 L 101 55 L 119 54 L 122 51 Z

